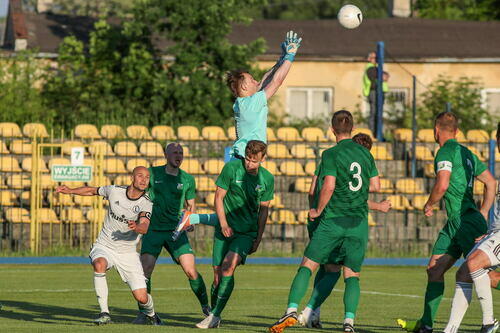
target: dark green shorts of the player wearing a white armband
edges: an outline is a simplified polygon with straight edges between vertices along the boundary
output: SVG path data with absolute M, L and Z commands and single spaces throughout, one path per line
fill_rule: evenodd
M 449 219 L 432 248 L 432 254 L 448 254 L 455 259 L 466 257 L 476 245 L 476 238 L 488 232 L 487 222 L 476 210 Z

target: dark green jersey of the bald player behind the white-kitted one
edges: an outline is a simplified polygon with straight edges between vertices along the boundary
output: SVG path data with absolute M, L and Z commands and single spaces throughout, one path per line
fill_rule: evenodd
M 179 169 L 177 176 L 165 172 L 165 165 L 149 168 L 149 193 L 153 200 L 150 228 L 174 230 L 186 200 L 196 196 L 194 177 Z

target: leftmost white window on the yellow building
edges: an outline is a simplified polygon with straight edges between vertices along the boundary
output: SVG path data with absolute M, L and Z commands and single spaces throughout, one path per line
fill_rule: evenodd
M 292 118 L 322 118 L 332 112 L 333 88 L 294 87 L 287 93 L 287 113 Z

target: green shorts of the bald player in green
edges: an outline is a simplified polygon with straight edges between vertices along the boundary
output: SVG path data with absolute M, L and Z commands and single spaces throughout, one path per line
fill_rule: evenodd
M 164 247 L 172 259 L 179 264 L 179 257 L 183 254 L 194 254 L 189 239 L 185 232 L 174 242 L 172 240 L 173 231 L 158 231 L 149 229 L 142 238 L 141 254 L 148 253 L 156 258 Z

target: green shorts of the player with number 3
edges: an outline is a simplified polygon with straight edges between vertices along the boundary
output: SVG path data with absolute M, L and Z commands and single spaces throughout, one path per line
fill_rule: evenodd
M 341 217 L 321 220 L 304 256 L 319 264 L 336 264 L 361 271 L 368 243 L 368 220 Z

